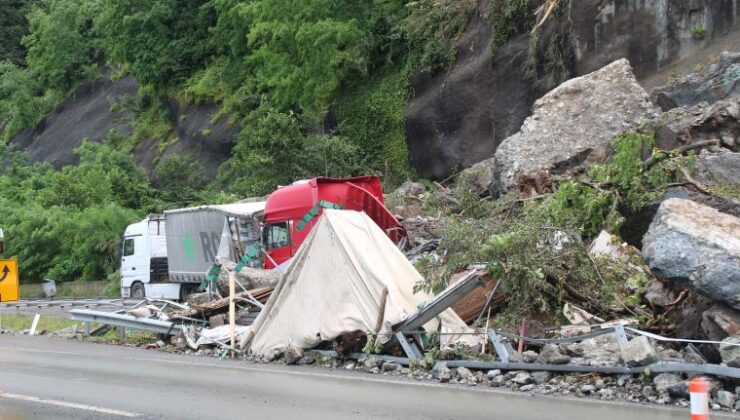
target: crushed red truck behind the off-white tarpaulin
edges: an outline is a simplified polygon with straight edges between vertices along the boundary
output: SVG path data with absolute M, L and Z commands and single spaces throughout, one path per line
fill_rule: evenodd
M 406 229 L 385 207 L 378 177 L 313 178 L 281 187 L 267 198 L 262 241 L 268 254 L 265 268 L 282 264 L 298 251 L 323 211 L 322 201 L 365 212 L 394 243 L 405 243 Z M 314 208 L 316 216 L 302 223 Z

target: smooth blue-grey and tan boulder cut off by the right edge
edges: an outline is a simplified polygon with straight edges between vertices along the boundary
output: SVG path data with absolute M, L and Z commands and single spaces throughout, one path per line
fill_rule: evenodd
M 664 201 L 643 238 L 653 272 L 740 309 L 740 219 L 689 200 Z

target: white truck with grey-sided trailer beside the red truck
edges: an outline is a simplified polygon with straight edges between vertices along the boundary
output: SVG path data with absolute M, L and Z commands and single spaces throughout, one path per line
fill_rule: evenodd
M 121 296 L 185 299 L 217 257 L 238 261 L 261 244 L 264 208 L 265 202 L 200 206 L 129 225 L 121 246 Z M 259 257 L 250 265 L 260 266 Z

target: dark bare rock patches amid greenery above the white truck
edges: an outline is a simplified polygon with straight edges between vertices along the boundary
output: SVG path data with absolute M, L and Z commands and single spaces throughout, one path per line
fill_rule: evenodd
M 54 110 L 41 124 L 21 132 L 13 142 L 29 153 L 34 162 L 55 167 L 77 163 L 74 149 L 83 139 L 99 142 L 112 130 L 123 136 L 133 132 L 133 113 L 120 104 L 137 94 L 133 77 L 108 78 L 84 84 L 74 97 Z M 212 122 L 216 105 L 187 105 L 172 102 L 173 139 L 162 147 L 159 139 L 144 139 L 136 145 L 136 163 L 152 172 L 159 160 L 177 154 L 197 159 L 208 177 L 231 155 L 238 127 L 225 119 Z

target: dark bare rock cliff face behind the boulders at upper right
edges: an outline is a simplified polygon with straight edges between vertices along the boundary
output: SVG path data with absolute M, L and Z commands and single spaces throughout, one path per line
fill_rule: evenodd
M 422 177 L 446 178 L 492 157 L 545 93 L 525 76 L 529 34 L 491 54 L 487 4 L 481 2 L 479 17 L 461 39 L 456 64 L 447 72 L 420 74 L 412 83 L 407 135 Z M 637 78 L 645 78 L 702 54 L 740 28 L 740 3 L 730 0 L 571 0 L 564 13 L 552 19 L 570 22 L 563 35 L 571 57 L 563 64 L 573 77 L 627 58 Z

